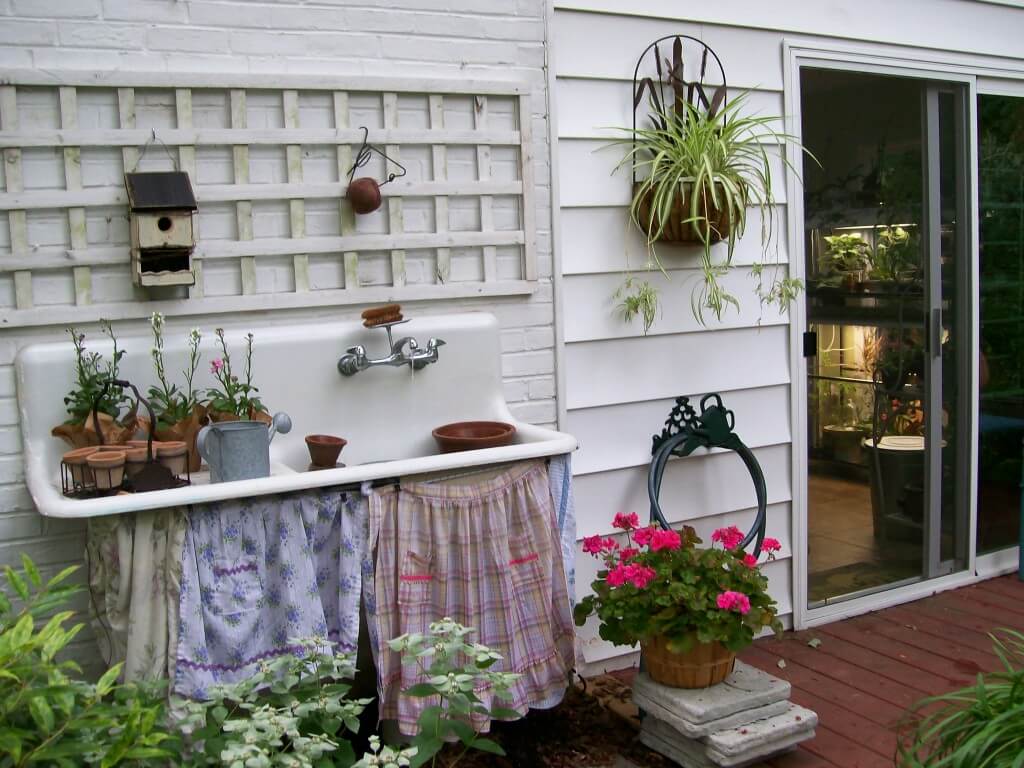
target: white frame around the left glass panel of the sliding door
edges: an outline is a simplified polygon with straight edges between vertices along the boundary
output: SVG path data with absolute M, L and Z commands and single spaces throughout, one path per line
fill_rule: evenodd
M 978 146 L 977 146 L 977 81 L 976 72 L 958 65 L 955 60 L 936 60 L 934 51 L 922 57 L 921 51 L 894 49 L 877 45 L 829 45 L 821 41 L 783 41 L 783 102 L 785 130 L 801 138 L 800 70 L 815 67 L 847 72 L 863 72 L 878 75 L 892 75 L 922 80 L 935 80 L 963 84 L 967 89 L 967 137 L 968 137 L 968 189 L 967 205 L 970 209 L 968 254 L 970 258 L 971 297 L 971 339 L 972 348 L 978 344 Z M 1007 73 L 999 71 L 998 75 Z M 1019 74 L 1024 77 L 1024 72 Z M 796 168 L 802 165 L 800 153 L 792 144 L 786 144 L 786 157 Z M 786 173 L 786 237 L 790 255 L 790 275 L 803 280 L 804 268 L 804 201 L 803 186 L 795 173 Z M 976 556 L 977 521 L 977 452 L 976 430 L 970 434 L 970 463 L 968 467 L 968 562 L 963 571 L 924 580 L 914 584 L 894 587 L 861 597 L 852 597 L 829 605 L 809 608 L 807 605 L 807 362 L 803 357 L 803 334 L 807 330 L 806 295 L 791 307 L 790 311 L 790 371 L 791 371 L 791 414 L 793 424 L 792 441 L 792 483 L 793 483 L 793 623 L 795 629 L 804 629 L 827 624 L 848 616 L 878 610 L 890 605 L 915 600 L 947 589 L 954 589 L 978 581 Z M 971 392 L 978 391 L 978 359 L 972 355 Z M 978 402 L 972 397 L 969 403 L 969 423 L 976 424 Z M 992 563 L 991 565 L 995 565 Z

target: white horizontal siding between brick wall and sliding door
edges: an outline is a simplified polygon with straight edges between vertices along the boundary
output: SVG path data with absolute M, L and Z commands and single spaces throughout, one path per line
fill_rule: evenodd
M 627 4 L 618 6 L 626 9 Z M 741 16 L 740 16 L 741 18 Z M 711 34 L 711 33 L 714 34 Z M 781 148 L 765 147 L 771 158 L 774 237 L 768 253 L 761 243 L 762 215 L 749 210 L 746 233 L 735 246 L 735 266 L 723 280 L 739 300 L 721 321 L 706 310 L 707 327 L 693 316 L 691 297 L 699 289 L 699 247 L 657 246 L 665 272 L 644 272 L 649 261 L 644 237 L 628 226 L 632 197 L 629 168 L 615 170 L 626 146 L 608 147 L 625 135 L 611 126 L 632 124 L 633 68 L 655 38 L 674 34 L 700 37 L 722 57 L 730 96 L 750 89 L 745 112 L 782 114 L 782 56 L 773 35 L 719 27 L 713 31 L 687 23 L 668 23 L 627 13 L 556 10 L 554 61 L 560 248 L 563 297 L 562 332 L 566 427 L 581 441 L 574 462 L 580 536 L 611 532 L 612 515 L 648 515 L 647 471 L 651 436 L 662 430 L 674 399 L 693 400 L 723 393 L 735 412 L 736 432 L 755 451 L 765 473 L 769 530 L 783 544 L 783 556 L 765 566 L 771 591 L 783 614 L 792 610 L 790 561 L 791 373 L 788 317 L 762 307 L 755 295 L 755 263 L 778 264 L 784 276 L 788 249 L 784 237 L 785 174 Z M 697 48 L 684 47 L 687 79 L 696 72 Z M 663 46 L 662 54 L 671 55 Z M 719 82 L 709 70 L 709 82 Z M 644 116 L 638 114 L 638 123 Z M 778 124 L 781 129 L 781 123 Z M 713 249 L 724 261 L 726 246 Z M 649 280 L 660 292 L 662 307 L 648 335 L 639 321 L 622 321 L 616 288 L 630 272 Z M 696 402 L 694 402 L 696 406 Z M 670 462 L 662 504 L 674 523 L 694 524 L 703 537 L 723 524 L 750 526 L 756 496 L 753 482 L 731 452 L 698 452 Z M 589 589 L 596 563 L 584 556 L 577 575 L 581 596 Z M 597 638 L 594 622 L 582 630 L 584 657 L 602 663 L 629 652 Z

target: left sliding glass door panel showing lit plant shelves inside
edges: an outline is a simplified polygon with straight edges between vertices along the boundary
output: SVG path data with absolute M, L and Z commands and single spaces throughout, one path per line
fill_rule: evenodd
M 965 567 L 963 86 L 804 68 L 808 603 Z

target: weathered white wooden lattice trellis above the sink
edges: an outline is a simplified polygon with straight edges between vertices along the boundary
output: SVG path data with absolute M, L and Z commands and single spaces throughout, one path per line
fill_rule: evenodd
M 0 327 L 536 286 L 528 94 L 516 84 L 0 78 Z M 361 126 L 409 169 L 368 217 L 344 200 Z M 383 179 L 389 169 L 375 163 L 356 175 Z M 130 285 L 122 174 L 136 164 L 193 177 L 200 240 L 187 297 L 140 304 Z

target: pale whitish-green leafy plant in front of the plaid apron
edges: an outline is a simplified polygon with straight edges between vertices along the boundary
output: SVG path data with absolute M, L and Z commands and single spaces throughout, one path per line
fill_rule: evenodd
M 438 753 L 447 739 L 458 739 L 463 745 L 459 756 L 445 764 L 447 768 L 470 750 L 505 755 L 497 742 L 480 736 L 472 725 L 473 716 L 488 720 L 517 720 L 521 716 L 501 707 L 487 709 L 476 691 L 486 688 L 496 698 L 509 698 L 509 688 L 519 675 L 492 672 L 489 668 L 502 656 L 485 645 L 468 642 L 466 638 L 473 632 L 445 617 L 431 624 L 427 635 L 401 635 L 388 642 L 391 650 L 401 653 L 404 664 L 417 665 L 425 678 L 402 695 L 431 701 L 417 722 L 412 742 L 416 755 L 410 763 L 413 768 L 428 761 L 431 766 L 437 765 Z

